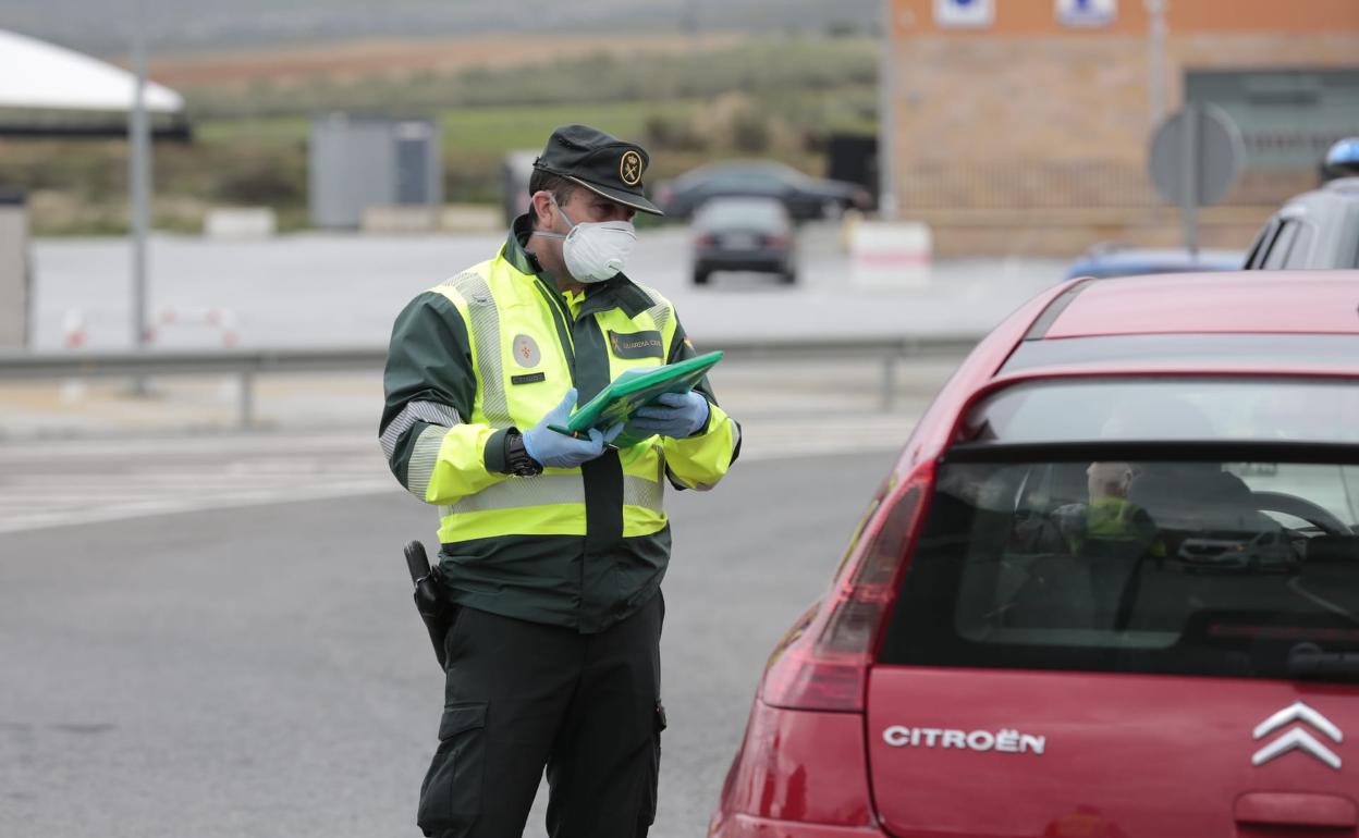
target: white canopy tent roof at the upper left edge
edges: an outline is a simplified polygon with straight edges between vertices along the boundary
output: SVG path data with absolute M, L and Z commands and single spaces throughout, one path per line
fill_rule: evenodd
M 137 77 L 83 53 L 0 30 L 0 109 L 128 111 Z M 183 98 L 148 81 L 147 110 L 179 113 Z

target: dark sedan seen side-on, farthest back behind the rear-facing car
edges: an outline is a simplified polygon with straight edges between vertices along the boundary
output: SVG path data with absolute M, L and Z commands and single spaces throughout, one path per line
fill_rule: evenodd
M 813 178 L 772 160 L 733 160 L 688 171 L 656 185 L 655 201 L 670 217 L 688 219 L 705 201 L 720 197 L 777 198 L 796 221 L 836 219 L 848 209 L 868 209 L 868 192 L 844 181 Z

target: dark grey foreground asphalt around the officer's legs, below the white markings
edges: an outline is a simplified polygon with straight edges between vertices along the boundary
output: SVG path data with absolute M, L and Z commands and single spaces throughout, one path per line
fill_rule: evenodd
M 892 459 L 753 458 L 712 493 L 671 496 L 652 835 L 704 834 L 762 661 Z M 53 503 L 118 490 L 117 469 L 80 460 L 50 467 Z M 279 493 L 0 532 L 0 835 L 419 834 L 442 678 L 400 547 L 434 543 L 434 512 L 395 485 Z M 544 834 L 541 811 L 526 835 Z

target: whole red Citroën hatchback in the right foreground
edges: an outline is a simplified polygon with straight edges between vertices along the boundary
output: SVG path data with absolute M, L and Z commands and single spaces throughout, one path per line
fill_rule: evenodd
M 1074 280 L 972 352 L 712 838 L 1355 835 L 1359 272 Z

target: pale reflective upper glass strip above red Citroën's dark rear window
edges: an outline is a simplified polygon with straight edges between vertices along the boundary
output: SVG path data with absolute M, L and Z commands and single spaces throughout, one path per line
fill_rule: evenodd
M 1017 384 L 966 417 L 964 439 L 1359 443 L 1359 380 L 1102 378 Z

